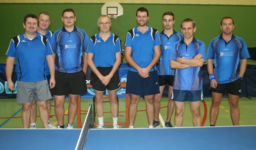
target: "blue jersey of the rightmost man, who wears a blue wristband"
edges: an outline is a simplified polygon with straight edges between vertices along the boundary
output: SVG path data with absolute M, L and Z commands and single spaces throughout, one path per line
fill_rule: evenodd
M 214 75 L 217 83 L 230 83 L 239 78 L 240 60 L 249 58 L 242 38 L 232 35 L 228 43 L 222 35 L 214 38 L 208 47 L 206 58 L 214 59 Z

